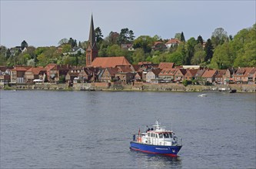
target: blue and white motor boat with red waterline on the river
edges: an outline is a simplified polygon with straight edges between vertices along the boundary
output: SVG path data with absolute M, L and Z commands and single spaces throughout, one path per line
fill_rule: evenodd
M 171 157 L 177 157 L 178 151 L 181 150 L 181 139 L 175 136 L 171 130 L 165 130 L 158 121 L 155 121 L 153 128 L 148 128 L 145 133 L 133 135 L 133 141 L 130 142 L 130 148 L 134 151 L 141 151 L 149 154 L 162 154 Z

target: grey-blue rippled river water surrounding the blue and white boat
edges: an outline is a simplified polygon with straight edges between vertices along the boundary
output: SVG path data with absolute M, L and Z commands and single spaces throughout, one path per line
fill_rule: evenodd
M 0 168 L 255 168 L 255 101 L 218 91 L 0 91 Z M 130 151 L 132 134 L 156 119 L 182 138 L 179 157 Z

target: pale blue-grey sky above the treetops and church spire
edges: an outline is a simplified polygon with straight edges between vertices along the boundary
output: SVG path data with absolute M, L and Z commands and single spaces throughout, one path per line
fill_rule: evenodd
M 256 22 L 256 0 L 239 1 L 22 1 L 0 0 L 0 45 L 58 46 L 62 38 L 88 41 L 91 14 L 103 38 L 121 28 L 140 35 L 211 38 L 216 28 L 236 35 Z

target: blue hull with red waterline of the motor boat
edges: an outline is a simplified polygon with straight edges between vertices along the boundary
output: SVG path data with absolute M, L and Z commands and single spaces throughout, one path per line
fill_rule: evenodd
M 151 144 L 142 144 L 137 141 L 131 141 L 131 149 L 135 151 L 141 151 L 150 154 L 163 154 L 172 157 L 176 157 L 178 151 L 181 150 L 181 145 L 178 146 L 165 146 L 165 145 L 151 145 Z

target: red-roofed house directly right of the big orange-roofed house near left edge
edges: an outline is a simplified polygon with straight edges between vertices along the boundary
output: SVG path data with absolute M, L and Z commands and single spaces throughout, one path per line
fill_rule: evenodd
M 25 83 L 33 84 L 34 80 L 39 79 L 45 81 L 46 70 L 43 67 L 29 68 L 25 71 Z

